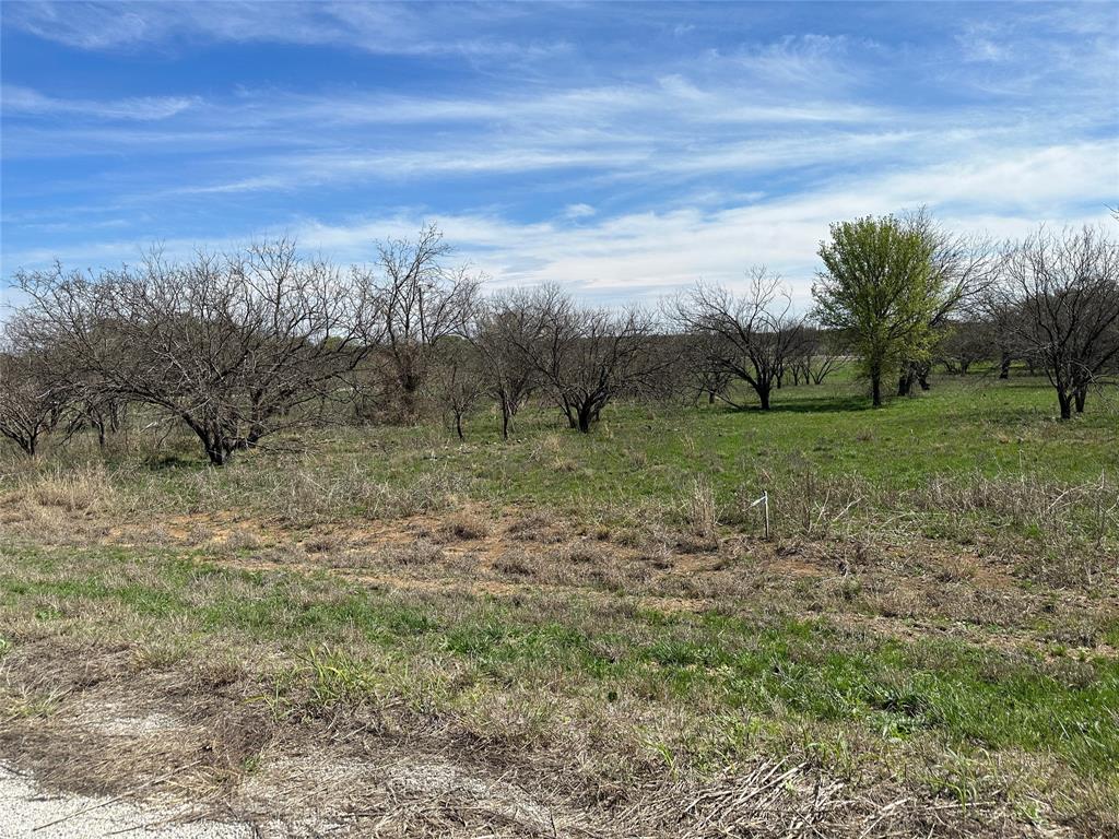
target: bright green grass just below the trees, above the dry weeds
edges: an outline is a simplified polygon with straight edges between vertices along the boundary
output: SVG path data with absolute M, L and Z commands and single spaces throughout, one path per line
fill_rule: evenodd
M 1119 469 L 1115 408 L 1096 398 L 1088 413 L 1060 423 L 1043 379 L 940 377 L 931 392 L 878 409 L 861 392 L 849 381 L 786 387 L 770 412 L 613 404 L 590 435 L 570 432 L 554 409 L 530 407 L 509 442 L 487 414 L 470 418 L 464 444 L 431 425 L 336 428 L 304 442 L 309 459 L 339 474 L 356 465 L 393 482 L 452 472 L 480 496 L 576 506 L 673 498 L 681 474 L 708 475 L 728 497 L 743 483 L 806 472 L 906 489 L 934 475 L 1043 474 L 1074 483 Z M 149 456 L 148 473 L 169 491 L 197 493 L 201 460 L 188 437 L 177 445 Z M 274 459 L 246 454 L 225 472 Z M 134 468 L 131 459 L 119 465 Z

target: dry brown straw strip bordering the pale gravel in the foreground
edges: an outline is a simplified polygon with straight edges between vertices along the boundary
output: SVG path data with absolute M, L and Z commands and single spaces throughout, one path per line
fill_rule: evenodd
M 95 664 L 83 680 L 62 666 L 75 657 Z M 8 718 L 8 760 L 48 789 L 189 802 L 194 817 L 261 829 L 330 824 L 342 837 L 1102 836 L 1092 821 L 1034 828 L 997 798 L 963 810 L 887 780 L 856 790 L 803 760 L 760 757 L 698 777 L 666 774 L 656 753 L 633 754 L 614 774 L 599 745 L 614 736 L 609 722 L 537 736 L 526 697 L 485 719 L 434 726 L 402 705 L 278 717 L 266 703 L 245 703 L 267 685 L 235 660 L 139 672 L 119 662 L 120 653 L 53 640 L 9 659 L 9 692 L 35 681 L 63 698 L 46 717 Z

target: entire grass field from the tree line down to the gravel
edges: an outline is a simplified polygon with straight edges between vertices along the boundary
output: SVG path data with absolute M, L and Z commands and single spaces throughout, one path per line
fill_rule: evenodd
M 0 757 L 342 835 L 1112 835 L 1111 399 L 6 453 Z

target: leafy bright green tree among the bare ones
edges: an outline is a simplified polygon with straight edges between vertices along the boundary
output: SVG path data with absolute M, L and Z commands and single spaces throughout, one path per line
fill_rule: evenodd
M 867 216 L 831 225 L 819 255 L 816 317 L 848 339 L 878 406 L 883 378 L 903 362 L 927 358 L 934 343 L 930 323 L 946 281 L 934 270 L 933 244 L 893 216 Z

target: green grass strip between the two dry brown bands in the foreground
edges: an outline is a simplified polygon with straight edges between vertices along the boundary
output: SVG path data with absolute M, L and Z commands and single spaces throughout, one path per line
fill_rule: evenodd
M 410 662 L 434 662 L 444 710 L 485 714 L 502 694 L 563 703 L 687 709 L 702 746 L 669 738 L 674 760 L 735 757 L 750 720 L 783 732 L 821 725 L 822 747 L 854 730 L 883 744 L 934 743 L 979 755 L 1046 755 L 1119 783 L 1119 661 L 1050 660 L 958 640 L 911 642 L 792 614 L 610 610 L 574 596 L 415 598 L 325 577 L 227 571 L 189 555 L 8 547 L 0 605 L 9 625 L 131 641 L 175 632 L 191 645 L 275 645 L 301 663 L 261 672 L 278 713 L 379 700 Z M 107 603 L 112 610 L 94 609 Z M 111 620 L 97 615 L 110 615 Z M 105 620 L 105 625 L 97 625 Z M 121 629 L 123 628 L 123 629 Z M 7 634 L 7 633 L 6 633 Z M 243 639 L 237 641 L 237 639 Z M 252 654 L 248 658 L 253 658 Z M 394 687 L 395 686 L 395 687 Z M 681 735 L 683 736 L 683 735 Z M 830 743 L 830 746 L 829 746 Z

